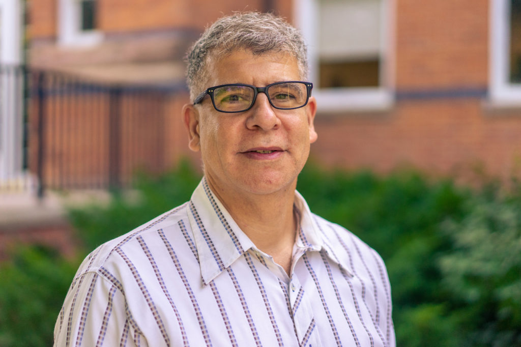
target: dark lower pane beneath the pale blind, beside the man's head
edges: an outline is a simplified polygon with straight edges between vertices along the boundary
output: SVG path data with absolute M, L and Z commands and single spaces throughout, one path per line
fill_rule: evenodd
M 320 61 L 320 88 L 378 86 L 380 61 Z

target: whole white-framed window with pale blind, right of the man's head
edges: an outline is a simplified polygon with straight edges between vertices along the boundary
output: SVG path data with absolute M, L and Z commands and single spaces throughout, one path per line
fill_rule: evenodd
M 385 109 L 391 0 L 300 0 L 297 25 L 309 48 L 321 110 Z

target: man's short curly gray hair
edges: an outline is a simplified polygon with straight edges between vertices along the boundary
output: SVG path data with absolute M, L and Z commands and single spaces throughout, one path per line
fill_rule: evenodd
M 287 53 L 296 58 L 301 78 L 307 78 L 306 45 L 297 29 L 269 13 L 237 13 L 214 22 L 190 49 L 187 84 L 191 100 L 205 88 L 209 57 L 221 57 L 235 49 L 246 49 L 256 55 Z

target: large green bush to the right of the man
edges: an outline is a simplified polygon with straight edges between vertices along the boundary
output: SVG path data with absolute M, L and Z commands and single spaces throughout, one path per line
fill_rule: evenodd
M 378 177 L 308 165 L 317 214 L 383 257 L 399 346 L 521 346 L 521 185 L 471 191 L 418 172 Z

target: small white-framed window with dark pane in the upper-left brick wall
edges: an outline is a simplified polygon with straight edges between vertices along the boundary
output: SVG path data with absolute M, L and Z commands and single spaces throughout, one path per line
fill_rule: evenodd
M 59 0 L 59 42 L 66 46 L 92 46 L 103 34 L 97 26 L 97 0 Z

